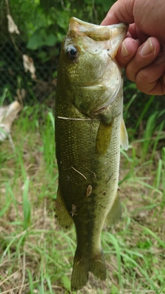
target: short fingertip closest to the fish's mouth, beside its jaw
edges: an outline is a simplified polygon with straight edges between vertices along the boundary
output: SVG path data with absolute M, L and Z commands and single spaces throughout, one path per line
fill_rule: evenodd
M 126 67 L 126 65 L 131 61 L 137 49 L 140 47 L 140 41 L 134 40 L 132 38 L 126 38 L 122 42 L 118 50 L 118 54 L 116 56 L 116 60 L 118 61 L 120 67 Z

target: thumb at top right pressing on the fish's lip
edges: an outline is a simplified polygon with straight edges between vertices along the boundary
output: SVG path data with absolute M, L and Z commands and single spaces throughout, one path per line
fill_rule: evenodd
M 164 1 L 118 0 L 116 1 L 101 25 L 114 23 L 135 23 L 149 36 L 155 36 L 165 42 Z

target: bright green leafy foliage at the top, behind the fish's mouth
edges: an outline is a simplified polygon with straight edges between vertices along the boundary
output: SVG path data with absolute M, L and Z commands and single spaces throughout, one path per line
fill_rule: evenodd
M 111 0 L 11 0 L 12 17 L 28 48 L 54 46 L 63 40 L 70 17 L 99 24 L 107 14 Z M 21 13 L 20 13 L 21 11 Z

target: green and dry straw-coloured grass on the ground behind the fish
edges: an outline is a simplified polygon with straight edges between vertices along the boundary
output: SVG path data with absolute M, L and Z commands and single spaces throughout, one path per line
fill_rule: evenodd
M 102 231 L 107 280 L 90 274 L 78 294 L 165 293 L 164 120 L 156 125 L 163 116 L 151 114 L 142 136 L 130 138 L 129 150 L 121 151 L 123 217 Z M 15 151 L 9 140 L 0 145 L 0 293 L 70 293 L 76 235 L 54 218 L 58 171 L 51 109 L 24 107 L 12 140 Z

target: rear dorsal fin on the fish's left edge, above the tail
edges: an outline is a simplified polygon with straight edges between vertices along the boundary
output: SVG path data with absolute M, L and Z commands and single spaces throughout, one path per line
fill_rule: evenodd
M 59 186 L 56 198 L 56 219 L 58 220 L 58 224 L 60 224 L 61 227 L 64 227 L 65 229 L 69 229 L 70 227 L 72 227 L 73 218 L 65 207 L 65 203 Z

